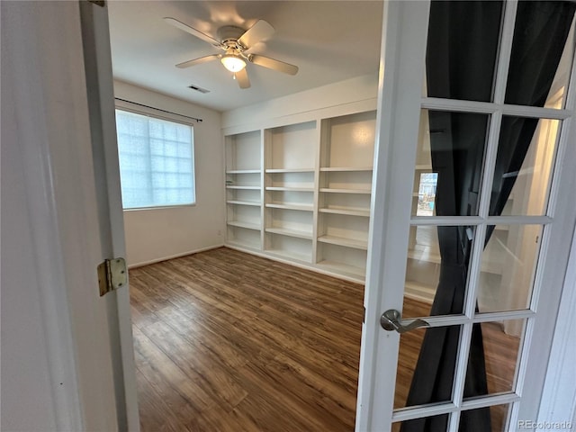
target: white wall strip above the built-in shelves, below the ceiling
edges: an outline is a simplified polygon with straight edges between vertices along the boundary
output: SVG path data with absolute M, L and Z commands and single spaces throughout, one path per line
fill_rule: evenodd
M 274 127 L 376 109 L 378 76 L 357 76 L 263 103 L 222 112 L 225 133 Z

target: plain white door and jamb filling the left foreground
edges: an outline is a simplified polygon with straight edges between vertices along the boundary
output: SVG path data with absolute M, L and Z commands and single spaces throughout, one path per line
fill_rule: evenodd
M 2 4 L 6 430 L 139 430 L 128 288 L 101 297 L 96 272 L 124 247 L 107 23 L 84 1 Z

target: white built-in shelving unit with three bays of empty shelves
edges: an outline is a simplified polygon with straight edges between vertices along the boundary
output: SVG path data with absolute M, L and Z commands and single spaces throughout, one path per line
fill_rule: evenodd
M 226 137 L 227 244 L 364 282 L 374 131 L 359 112 Z

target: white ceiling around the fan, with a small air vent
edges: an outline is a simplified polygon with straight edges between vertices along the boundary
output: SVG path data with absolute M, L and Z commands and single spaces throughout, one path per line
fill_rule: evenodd
M 382 9 L 371 1 L 110 1 L 112 68 L 116 79 L 217 111 L 263 102 L 355 76 L 376 74 Z M 183 61 L 220 53 L 167 24 L 171 16 L 217 39 L 223 25 L 248 29 L 258 19 L 275 34 L 250 52 L 292 63 L 296 76 L 247 65 L 251 87 L 240 89 L 219 61 L 185 69 Z M 210 90 L 195 92 L 188 85 Z

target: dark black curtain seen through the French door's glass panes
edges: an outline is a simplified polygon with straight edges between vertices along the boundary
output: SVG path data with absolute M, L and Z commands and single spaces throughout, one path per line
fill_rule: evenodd
M 562 57 L 576 4 L 519 2 L 509 67 L 506 103 L 544 106 Z M 490 101 L 496 64 L 502 2 L 433 1 L 427 51 L 428 95 Z M 438 173 L 438 216 L 477 213 L 488 116 L 428 112 L 433 170 Z M 500 215 L 516 181 L 537 119 L 504 117 L 491 193 L 491 215 Z M 438 227 L 440 280 L 431 315 L 462 313 L 470 229 Z M 485 244 L 491 236 L 487 233 Z M 450 401 L 460 329 L 427 329 L 410 386 L 407 406 Z M 482 329 L 473 335 L 464 397 L 487 394 Z M 447 416 L 405 421 L 402 432 L 446 430 Z M 490 410 L 463 411 L 460 430 L 491 431 Z

